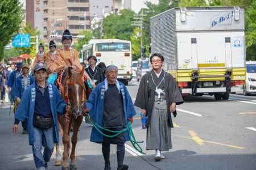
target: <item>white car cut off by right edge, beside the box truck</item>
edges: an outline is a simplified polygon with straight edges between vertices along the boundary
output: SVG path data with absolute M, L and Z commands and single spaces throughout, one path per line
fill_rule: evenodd
M 256 61 L 246 61 L 246 80 L 243 95 L 256 94 Z

